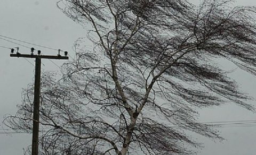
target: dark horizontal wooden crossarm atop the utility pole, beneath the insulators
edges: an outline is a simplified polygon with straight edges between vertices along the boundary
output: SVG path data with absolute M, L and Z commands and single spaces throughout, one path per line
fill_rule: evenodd
M 11 57 L 45 58 L 45 59 L 68 59 L 68 56 L 54 55 L 31 55 L 31 54 L 10 54 Z

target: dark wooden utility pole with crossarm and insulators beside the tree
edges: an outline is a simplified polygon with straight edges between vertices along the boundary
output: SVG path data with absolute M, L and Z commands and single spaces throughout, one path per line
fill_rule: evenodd
M 19 48 L 17 53 L 14 54 L 14 49 L 11 49 L 11 57 L 25 57 L 25 58 L 36 58 L 35 68 L 35 86 L 34 86 L 34 111 L 33 111 L 33 135 L 32 135 L 32 154 L 38 155 L 38 137 L 39 137 L 39 105 L 40 105 L 40 81 L 41 81 L 41 59 L 68 59 L 68 52 L 65 51 L 65 56 L 59 54 L 57 56 L 52 55 L 41 55 L 41 51 L 37 51 L 37 55 L 34 55 L 34 48 L 31 48 L 31 54 L 20 54 Z

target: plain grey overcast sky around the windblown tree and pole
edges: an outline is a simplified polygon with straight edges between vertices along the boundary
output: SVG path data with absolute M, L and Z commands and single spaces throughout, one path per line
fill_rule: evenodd
M 238 0 L 237 4 L 256 5 L 256 1 Z M 0 0 L 0 35 L 2 36 L 33 42 L 54 49 L 68 50 L 69 54 L 74 56 L 72 50 L 74 41 L 79 37 L 86 36 L 86 33 L 86 29 L 61 13 L 53 0 Z M 19 46 L 3 39 L 6 38 L 0 36 L 0 46 L 11 48 Z M 19 43 L 31 47 L 31 45 Z M 30 51 L 26 47 L 19 47 L 20 53 L 28 54 Z M 57 55 L 57 50 L 35 48 L 41 49 L 44 54 Z M 2 122 L 5 114 L 15 114 L 16 105 L 21 101 L 22 88 L 26 88 L 28 83 L 33 82 L 34 59 L 11 58 L 9 56 L 10 50 L 3 47 L 0 47 L 0 53 L 0 121 Z M 42 63 L 43 71 L 57 71 L 59 70 L 58 66 L 63 61 L 54 60 L 55 64 L 53 64 L 53 62 L 44 59 Z M 230 70 L 235 68 L 231 64 L 223 65 Z M 244 92 L 256 98 L 255 77 L 239 69 L 230 75 L 239 82 Z M 201 114 L 199 117 L 201 122 L 256 120 L 256 114 L 232 104 L 200 109 L 199 114 Z M 26 148 L 31 143 L 30 134 L 5 134 L 1 128 L 2 126 L 0 127 L 0 155 L 22 154 L 22 148 Z M 199 155 L 255 154 L 256 126 L 228 126 L 218 129 L 226 139 L 225 141 L 213 142 L 203 137 L 195 137 L 205 145 L 198 153 Z

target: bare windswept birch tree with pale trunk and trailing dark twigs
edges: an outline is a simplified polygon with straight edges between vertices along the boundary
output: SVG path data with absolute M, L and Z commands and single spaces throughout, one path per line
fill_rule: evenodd
M 62 0 L 88 30 L 63 79 L 43 77 L 42 154 L 193 154 L 189 132 L 222 139 L 196 109 L 232 102 L 248 110 L 220 60 L 256 75 L 255 7 L 227 0 Z M 33 85 L 7 125 L 31 132 Z M 189 146 L 189 147 L 187 147 Z

